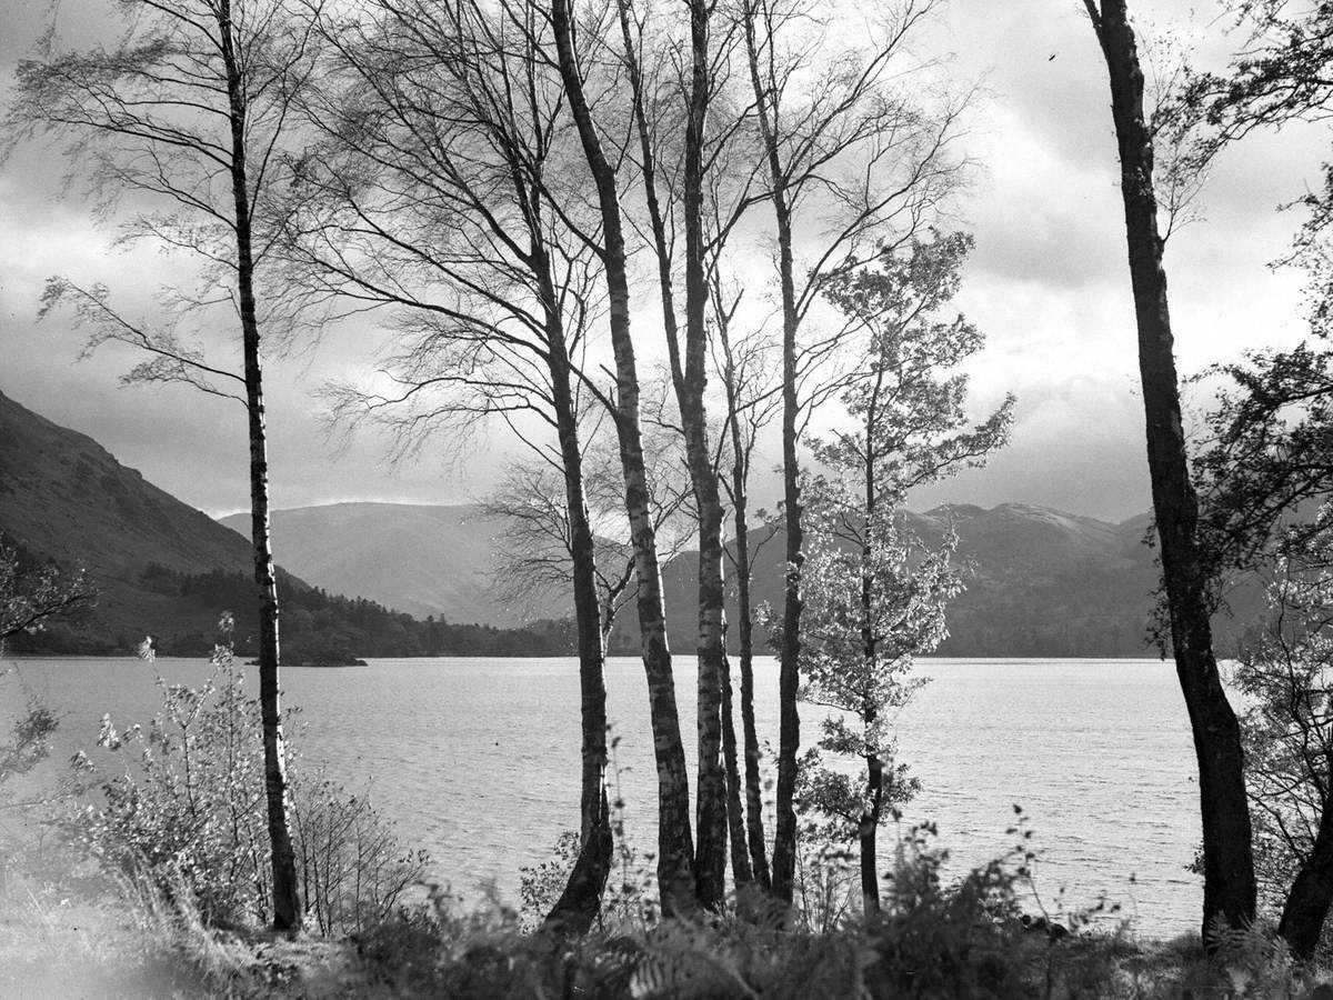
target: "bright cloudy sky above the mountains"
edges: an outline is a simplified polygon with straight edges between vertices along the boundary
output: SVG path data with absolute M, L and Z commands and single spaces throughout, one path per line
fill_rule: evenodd
M 61 31 L 95 36 L 83 12 L 59 7 Z M 1197 37 L 1200 59 L 1238 45 L 1209 0 L 1137 0 L 1141 35 Z M 41 31 L 47 4 L 0 0 L 0 95 Z M 1190 12 L 1193 9 L 1193 16 Z M 1105 65 L 1080 0 L 952 0 L 921 41 L 981 93 L 966 151 L 982 169 L 960 197 L 958 223 L 976 237 L 957 304 L 986 335 L 972 365 L 973 405 L 1017 396 L 1010 443 L 985 469 L 918 492 L 914 507 L 1020 501 L 1122 520 L 1149 507 L 1133 311 L 1117 188 Z M 1328 136 L 1314 128 L 1261 135 L 1228 151 L 1200 200 L 1202 219 L 1176 233 L 1166 269 L 1182 373 L 1248 348 L 1302 335 L 1302 280 L 1270 261 L 1300 216 L 1278 205 L 1320 183 Z M 67 316 L 36 321 L 45 280 L 103 281 L 121 301 L 172 273 L 156 251 L 112 248 L 76 195 L 61 196 L 65 163 L 52 148 L 20 148 L 0 164 L 0 392 L 84 432 L 123 464 L 209 513 L 248 505 L 244 411 L 184 387 L 120 385 L 135 359 L 104 348 L 80 360 L 84 335 Z M 764 253 L 754 247 L 754 253 Z M 652 337 L 639 323 L 637 337 Z M 507 455 L 496 428 L 428 443 L 387 467 L 384 441 L 332 439 L 319 389 L 359 377 L 384 333 L 344 324 L 267 371 L 272 497 L 277 508 L 345 500 L 467 503 Z M 648 355 L 651 356 L 649 348 Z M 1192 400 L 1197 408 L 1206 400 Z M 764 456 L 776 464 L 776 451 Z M 761 467 L 764 461 L 758 463 Z M 776 475 L 760 485 L 776 496 Z

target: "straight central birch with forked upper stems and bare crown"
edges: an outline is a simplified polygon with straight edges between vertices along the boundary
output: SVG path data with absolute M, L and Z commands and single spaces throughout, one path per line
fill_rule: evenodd
M 746 112 L 732 108 L 729 75 L 736 63 L 734 24 L 714 17 L 714 5 L 690 0 L 686 17 L 653 16 L 632 0 L 617 0 L 620 40 L 636 143 L 628 147 L 628 185 L 641 191 L 647 221 L 631 224 L 656 259 L 670 383 L 680 413 L 686 468 L 698 519 L 698 785 L 697 895 L 717 908 L 728 837 L 725 823 L 726 741 L 722 703 L 728 701 L 729 664 L 725 653 L 724 508 L 709 424 L 709 273 L 728 236 L 754 203 L 753 165 L 728 152 L 744 136 Z M 721 28 L 718 31 L 718 28 Z M 717 113 L 721 111 L 721 113 Z M 637 160 L 635 155 L 637 153 Z M 740 171 L 733 168 L 740 165 Z M 718 212 L 718 193 L 729 189 L 732 204 Z M 677 235 L 684 233 L 684 253 Z M 680 295 L 680 284 L 684 295 Z M 684 324 L 677 315 L 682 307 Z M 744 861 L 744 855 L 733 861 Z M 734 867 L 734 864 L 733 864 Z

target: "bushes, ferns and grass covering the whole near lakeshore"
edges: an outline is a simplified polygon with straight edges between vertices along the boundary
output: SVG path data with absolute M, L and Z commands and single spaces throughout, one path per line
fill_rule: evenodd
M 199 688 L 163 684 L 144 724 L 104 719 L 115 767 L 49 767 L 59 720 L 33 705 L 0 747 L 0 995 L 143 997 L 1309 997 L 1333 973 L 1272 928 L 1141 941 L 1114 907 L 1046 913 L 1021 815 L 1008 856 L 948 881 L 917 828 L 884 844 L 880 912 L 857 859 L 824 839 L 797 865 L 797 905 L 730 896 L 661 920 L 625 847 L 587 935 L 543 927 L 579 853 L 571 832 L 524 873 L 523 907 L 468 911 L 431 884 L 365 795 L 300 755 L 292 831 L 299 936 L 271 923 L 256 703 L 229 647 Z M 35 784 L 33 784 L 35 783 Z M 32 831 L 40 831 L 33 836 Z M 820 843 L 810 825 L 802 841 Z M 1040 913 L 1040 916 L 1033 916 Z

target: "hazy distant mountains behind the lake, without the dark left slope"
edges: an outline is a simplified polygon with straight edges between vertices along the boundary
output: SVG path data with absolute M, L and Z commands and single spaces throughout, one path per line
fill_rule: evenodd
M 1146 515 L 1120 524 L 1033 504 L 984 509 L 956 505 L 908 515 L 922 536 L 952 520 L 960 555 L 973 572 L 950 605 L 953 656 L 1141 656 L 1157 571 L 1144 544 Z M 244 517 L 225 519 L 241 524 Z M 416 615 L 512 625 L 523 608 L 488 592 L 491 557 L 504 525 L 475 507 L 333 504 L 273 515 L 280 557 L 308 580 Z M 761 537 L 756 532 L 752 548 Z M 696 556 L 685 552 L 663 572 L 674 649 L 693 648 Z M 756 600 L 781 604 L 782 544 L 756 559 Z M 561 617 L 560 600 L 528 612 Z M 734 608 L 732 608 L 734 615 Z M 617 649 L 633 645 L 632 609 L 623 612 Z M 1225 623 L 1224 623 L 1225 624 Z

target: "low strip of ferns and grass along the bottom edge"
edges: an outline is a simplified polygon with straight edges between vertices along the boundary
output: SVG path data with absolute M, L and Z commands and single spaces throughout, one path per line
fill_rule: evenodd
M 1258 931 L 1212 957 L 1197 936 L 1064 935 L 1022 921 L 993 868 L 944 889 L 928 864 L 868 923 L 780 929 L 733 913 L 705 923 L 608 923 L 583 939 L 528 933 L 499 905 L 445 896 L 361 935 L 288 940 L 209 928 L 161 899 L 7 900 L 0 992 L 143 997 L 1325 997 L 1321 964 Z M 912 881 L 916 885 L 910 885 Z M 136 893 L 137 895 L 137 893 Z

